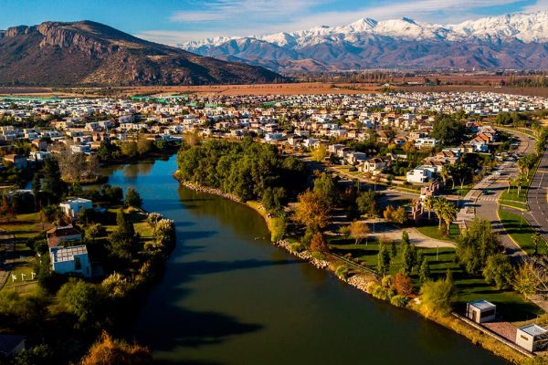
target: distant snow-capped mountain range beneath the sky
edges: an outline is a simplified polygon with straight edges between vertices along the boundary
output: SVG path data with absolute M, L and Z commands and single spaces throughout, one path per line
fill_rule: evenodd
M 360 19 L 266 36 L 214 37 L 177 45 L 199 55 L 277 72 L 367 68 L 548 68 L 548 12 L 436 25 L 408 17 Z

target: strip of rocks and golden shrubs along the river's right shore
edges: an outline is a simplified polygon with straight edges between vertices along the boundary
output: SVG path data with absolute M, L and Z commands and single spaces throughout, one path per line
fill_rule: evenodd
M 248 206 L 249 208 L 253 209 L 257 214 L 263 217 L 265 223 L 269 227 L 270 233 L 272 234 L 273 220 L 276 218 L 269 214 L 261 203 L 257 201 L 243 202 L 235 194 L 224 193 L 221 189 L 211 188 L 197 183 L 184 181 L 180 177 L 178 177 L 178 171 L 174 173 L 174 178 L 188 189 L 194 190 L 199 193 L 214 194 L 216 196 L 229 199 L 235 203 L 241 203 Z M 295 242 L 292 243 L 290 239 L 270 241 L 272 245 L 286 250 L 290 253 L 290 255 L 295 255 L 303 261 L 307 261 L 312 266 L 315 266 L 319 269 L 328 270 L 346 284 L 349 284 L 350 286 L 363 291 L 365 294 L 377 299 L 381 299 L 387 304 L 392 304 L 395 307 L 411 310 L 420 315 L 422 318 L 426 318 L 430 321 L 437 323 L 438 325 L 453 330 L 458 335 L 469 339 L 474 345 L 479 345 L 483 349 L 489 350 L 496 356 L 511 361 L 511 363 L 522 364 L 524 361 L 530 358 L 530 355 L 525 355 L 524 352 L 512 349 L 511 347 L 502 344 L 501 341 L 499 341 L 498 339 L 494 339 L 487 333 L 480 331 L 478 328 L 470 326 L 468 323 L 459 319 L 458 316 L 456 316 L 453 312 L 446 315 L 440 315 L 436 312 L 427 310 L 427 308 L 421 306 L 420 299 L 418 297 L 414 297 L 412 300 L 406 303 L 406 306 L 401 306 L 396 305 L 391 300 L 386 300 L 386 298 L 375 295 L 374 290 L 375 288 L 379 287 L 379 285 L 377 284 L 379 278 L 366 270 L 362 270 L 362 272 L 359 274 L 349 276 L 350 267 L 345 261 L 343 261 L 336 255 L 326 254 L 318 256 L 315 255 L 316 253 L 311 253 L 311 251 L 305 249 L 302 245 L 299 245 L 300 249 L 295 249 Z

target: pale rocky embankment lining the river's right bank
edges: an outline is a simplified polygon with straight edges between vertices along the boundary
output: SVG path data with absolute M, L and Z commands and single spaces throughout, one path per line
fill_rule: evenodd
M 174 176 L 176 176 L 176 173 Z M 179 183 L 181 183 L 188 189 L 191 189 L 200 193 L 215 194 L 217 196 L 221 196 L 226 199 L 229 199 L 233 202 L 247 205 L 248 207 L 255 210 L 260 216 L 263 217 L 265 223 L 268 225 L 269 230 L 271 231 L 270 227 L 271 227 L 273 218 L 269 217 L 269 214 L 264 210 L 264 208 L 262 208 L 262 205 L 260 203 L 258 202 L 244 203 L 244 202 L 241 202 L 241 200 L 239 200 L 236 196 L 223 193 L 219 189 L 199 186 L 194 183 L 187 183 L 187 182 L 181 181 L 180 179 L 177 179 L 177 180 L 179 181 Z M 343 261 L 337 259 L 336 257 L 332 255 L 325 255 L 324 258 L 318 258 L 317 255 L 312 255 L 307 250 L 303 250 L 300 252 L 296 251 L 291 248 L 291 243 L 289 240 L 280 240 L 278 242 L 273 242 L 273 245 L 276 245 L 276 246 L 279 246 L 280 248 L 285 249 L 291 255 L 295 255 L 301 260 L 310 262 L 313 266 L 317 268 L 321 268 L 323 270 L 328 270 L 332 272 L 340 280 L 344 281 L 345 283 L 369 295 L 372 294 L 368 291 L 368 287 L 370 283 L 378 281 L 374 277 L 374 275 L 372 275 L 371 273 L 368 273 L 365 271 L 358 272 L 357 269 L 354 267 L 349 267 L 353 269 L 352 276 L 345 277 L 345 276 L 337 275 L 336 273 L 337 268 L 339 268 L 340 266 L 347 266 L 346 263 L 344 263 Z M 387 301 L 385 302 L 387 304 L 389 303 Z M 423 310 L 423 308 L 420 306 L 420 303 L 417 300 L 410 301 L 405 308 L 416 312 L 416 314 L 420 315 L 423 318 L 436 322 L 438 325 L 451 329 L 452 331 L 458 333 L 459 335 L 469 339 L 473 344 L 479 345 L 483 349 L 487 349 L 490 352 L 494 353 L 495 355 L 500 356 L 501 358 L 504 358 L 505 360 L 509 360 L 512 363 L 520 364 L 527 359 L 525 355 L 518 352 L 517 350 L 509 348 L 508 346 L 499 342 L 497 339 L 493 339 L 489 335 L 479 331 L 479 329 L 469 326 L 469 324 L 463 322 L 462 320 L 458 318 L 455 318 L 454 316 L 449 315 L 447 317 L 440 317 L 440 316 L 427 313 L 425 310 Z

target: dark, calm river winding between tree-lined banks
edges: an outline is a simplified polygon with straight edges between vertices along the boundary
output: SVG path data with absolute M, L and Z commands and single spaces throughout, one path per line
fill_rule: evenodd
M 159 363 L 505 363 L 270 245 L 253 210 L 181 187 L 175 170 L 172 157 L 107 171 L 175 221 L 176 248 L 133 328 Z

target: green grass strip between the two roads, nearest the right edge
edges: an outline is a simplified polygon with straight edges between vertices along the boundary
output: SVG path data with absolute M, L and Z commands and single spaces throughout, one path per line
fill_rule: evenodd
M 505 210 L 499 211 L 499 218 L 508 235 L 522 247 L 523 251 L 528 255 L 532 255 L 534 253 L 532 235 L 535 231 L 531 224 L 527 222 L 527 219 L 522 218 L 522 214 L 515 214 Z M 548 245 L 546 245 L 543 239 L 541 239 L 541 243 L 539 244 L 538 252 L 539 254 L 548 253 Z

